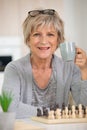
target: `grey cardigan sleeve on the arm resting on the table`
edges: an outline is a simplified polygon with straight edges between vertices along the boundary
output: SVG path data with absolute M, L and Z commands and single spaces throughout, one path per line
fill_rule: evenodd
M 10 91 L 13 94 L 13 101 L 9 107 L 9 111 L 16 113 L 16 118 L 28 118 L 35 116 L 37 107 L 31 106 L 30 104 L 23 103 L 21 100 L 21 84 L 20 76 L 13 62 L 8 64 L 4 72 L 4 82 L 2 91 Z

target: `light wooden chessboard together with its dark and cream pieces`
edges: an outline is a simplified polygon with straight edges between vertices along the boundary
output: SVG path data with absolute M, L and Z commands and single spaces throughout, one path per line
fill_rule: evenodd
M 42 111 L 37 109 L 37 116 L 32 120 L 45 124 L 64 124 L 64 123 L 87 123 L 87 107 L 79 104 L 78 106 L 64 106 L 60 109 L 58 105 L 48 110 L 46 107 Z

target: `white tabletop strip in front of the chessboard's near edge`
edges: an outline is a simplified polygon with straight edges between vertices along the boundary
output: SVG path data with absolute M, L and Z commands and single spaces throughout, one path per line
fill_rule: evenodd
M 44 128 L 44 130 L 87 130 L 87 123 L 69 123 L 69 124 L 44 124 L 31 119 L 21 119 L 32 126 Z

